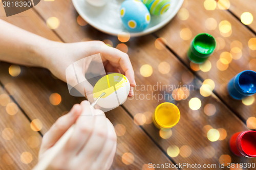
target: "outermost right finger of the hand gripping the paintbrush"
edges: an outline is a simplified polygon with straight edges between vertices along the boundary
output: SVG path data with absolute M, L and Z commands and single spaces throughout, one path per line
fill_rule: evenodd
M 115 152 L 113 154 L 113 150 L 116 150 L 115 145 L 117 140 L 115 129 L 109 119 L 106 119 L 106 122 L 108 125 L 108 137 L 102 151 L 100 152 L 99 156 L 96 158 L 93 166 L 91 167 L 92 170 L 106 169 L 106 167 L 108 167 L 109 165 L 109 162 L 111 162 L 112 164 L 114 158 L 113 155 L 115 155 Z M 109 160 L 109 158 L 112 158 L 112 160 Z

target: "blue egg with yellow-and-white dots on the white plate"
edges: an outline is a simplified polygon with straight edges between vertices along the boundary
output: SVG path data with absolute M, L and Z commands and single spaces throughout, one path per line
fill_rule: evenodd
M 132 32 L 140 32 L 149 25 L 151 16 L 141 1 L 124 1 L 120 8 L 120 15 L 124 27 Z

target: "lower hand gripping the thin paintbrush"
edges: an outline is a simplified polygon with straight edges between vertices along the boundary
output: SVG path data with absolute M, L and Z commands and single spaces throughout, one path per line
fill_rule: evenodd
M 96 116 L 92 116 L 96 112 Z M 39 161 L 73 125 L 75 130 L 65 147 L 50 164 L 49 169 L 104 170 L 110 169 L 116 152 L 117 137 L 110 120 L 88 101 L 74 105 L 61 116 L 42 138 Z

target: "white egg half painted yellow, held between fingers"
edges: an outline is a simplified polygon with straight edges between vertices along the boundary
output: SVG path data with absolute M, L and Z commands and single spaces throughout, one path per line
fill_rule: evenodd
M 123 104 L 130 91 L 130 82 L 122 74 L 113 73 L 99 79 L 93 89 L 94 101 L 104 92 L 97 105 L 105 109 L 116 108 Z

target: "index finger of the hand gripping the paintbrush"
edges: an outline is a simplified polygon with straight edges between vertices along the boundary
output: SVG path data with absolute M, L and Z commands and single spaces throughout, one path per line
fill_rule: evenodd
M 88 101 L 81 102 L 81 115 L 76 120 L 75 130 L 66 144 L 66 151 L 72 151 L 75 154 L 81 151 L 84 144 L 89 139 L 93 131 L 95 116 L 92 116 L 94 109 Z

